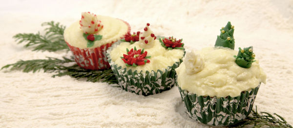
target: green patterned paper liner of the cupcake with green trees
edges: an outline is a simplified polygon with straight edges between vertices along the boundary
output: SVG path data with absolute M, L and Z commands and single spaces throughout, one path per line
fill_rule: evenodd
M 178 89 L 190 118 L 207 125 L 229 126 L 250 114 L 259 86 L 251 91 L 243 91 L 239 96 L 225 98 L 198 96 L 179 86 Z

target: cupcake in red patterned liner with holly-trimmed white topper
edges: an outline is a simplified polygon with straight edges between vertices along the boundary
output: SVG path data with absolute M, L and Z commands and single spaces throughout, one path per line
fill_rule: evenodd
M 64 30 L 64 39 L 80 67 L 100 70 L 110 68 L 106 50 L 127 32 L 130 26 L 121 19 L 84 12 Z

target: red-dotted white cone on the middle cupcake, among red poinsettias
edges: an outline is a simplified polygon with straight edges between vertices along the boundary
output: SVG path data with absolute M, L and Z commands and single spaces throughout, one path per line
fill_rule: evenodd
M 157 37 L 153 34 L 153 31 L 149 28 L 149 23 L 146 23 L 146 27 L 144 28 L 144 32 L 139 39 L 140 46 L 142 48 L 152 48 L 154 46 L 154 40 Z

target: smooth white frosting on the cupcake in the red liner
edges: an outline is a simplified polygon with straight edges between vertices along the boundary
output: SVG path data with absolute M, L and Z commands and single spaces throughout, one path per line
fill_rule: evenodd
M 90 48 L 117 41 L 128 31 L 128 25 L 120 19 L 100 15 L 97 15 L 97 18 L 102 21 L 104 28 L 98 31 L 96 35 L 102 35 L 103 37 L 101 40 L 96 40 L 95 44 Z M 83 34 L 79 21 L 76 21 L 64 30 L 64 39 L 71 46 L 84 49 L 87 48 L 87 40 L 85 40 Z

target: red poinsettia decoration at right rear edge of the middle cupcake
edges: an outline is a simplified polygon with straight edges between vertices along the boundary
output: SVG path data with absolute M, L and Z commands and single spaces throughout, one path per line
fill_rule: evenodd
M 163 47 L 171 50 L 173 48 L 175 49 L 183 49 L 184 43 L 181 43 L 183 39 L 176 40 L 176 38 L 169 37 L 169 38 L 160 38 L 160 42 Z

